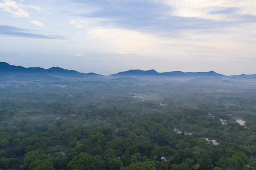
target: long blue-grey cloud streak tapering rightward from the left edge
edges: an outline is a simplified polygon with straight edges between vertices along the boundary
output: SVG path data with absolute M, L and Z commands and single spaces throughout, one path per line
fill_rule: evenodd
M 65 39 L 65 37 L 60 35 L 36 34 L 29 29 L 22 29 L 14 26 L 1 26 L 1 25 L 0 25 L 0 35 L 26 37 L 26 38 L 43 38 L 43 39 L 59 39 L 59 40 Z

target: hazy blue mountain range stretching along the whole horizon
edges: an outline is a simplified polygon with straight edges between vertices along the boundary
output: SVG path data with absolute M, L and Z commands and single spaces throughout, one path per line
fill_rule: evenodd
M 0 62 L 0 81 L 8 80 L 62 80 L 62 79 L 112 79 L 112 80 L 136 80 L 135 78 L 200 78 L 200 77 L 220 77 L 220 78 L 256 78 L 256 75 L 239 75 L 225 76 L 214 71 L 209 72 L 182 72 L 170 71 L 159 73 L 154 69 L 151 70 L 128 70 L 112 74 L 109 76 L 98 75 L 96 73 L 80 73 L 75 70 L 68 70 L 59 67 L 44 69 L 40 67 L 24 68 L 21 66 L 9 65 L 6 62 Z

